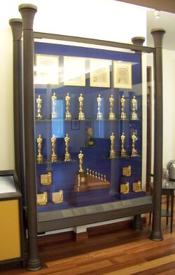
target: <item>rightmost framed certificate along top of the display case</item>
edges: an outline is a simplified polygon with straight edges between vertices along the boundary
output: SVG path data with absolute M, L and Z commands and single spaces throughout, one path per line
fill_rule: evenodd
M 132 63 L 113 61 L 113 88 L 132 88 Z

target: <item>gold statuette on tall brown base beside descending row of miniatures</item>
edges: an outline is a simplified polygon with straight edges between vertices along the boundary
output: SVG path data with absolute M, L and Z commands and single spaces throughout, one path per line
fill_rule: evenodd
M 74 185 L 74 191 L 76 192 L 85 192 L 88 189 L 87 185 L 87 172 L 83 170 L 83 153 L 80 151 L 78 154 L 79 159 L 79 170 L 76 173 L 76 184 Z M 89 175 L 91 174 L 91 170 L 89 170 Z

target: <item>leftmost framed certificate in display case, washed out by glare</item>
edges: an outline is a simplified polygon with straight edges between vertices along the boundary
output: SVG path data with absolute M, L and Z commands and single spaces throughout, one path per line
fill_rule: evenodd
M 34 83 L 59 84 L 59 56 L 35 55 Z

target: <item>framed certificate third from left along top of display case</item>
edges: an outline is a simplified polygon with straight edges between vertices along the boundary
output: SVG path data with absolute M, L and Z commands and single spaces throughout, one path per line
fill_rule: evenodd
M 110 88 L 111 60 L 90 59 L 90 86 Z

